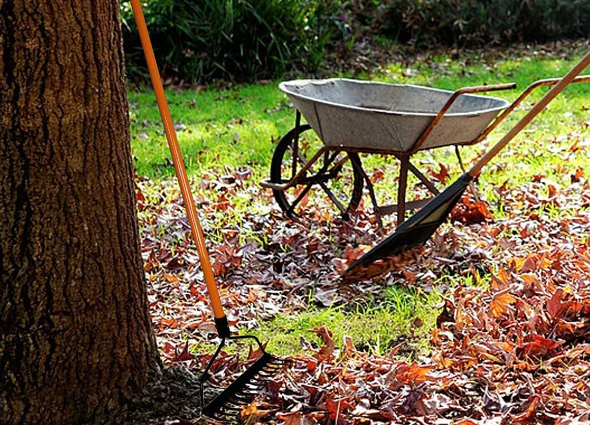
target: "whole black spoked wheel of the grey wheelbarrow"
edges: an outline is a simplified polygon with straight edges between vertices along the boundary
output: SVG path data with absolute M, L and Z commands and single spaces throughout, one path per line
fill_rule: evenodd
M 299 127 L 298 160 L 296 173 L 310 160 L 323 146 L 322 141 L 314 131 L 310 131 L 309 124 Z M 305 134 L 304 134 L 305 133 Z M 273 160 L 270 166 L 270 181 L 272 183 L 286 183 L 293 178 L 293 142 L 296 129 L 291 129 L 278 142 L 274 150 Z M 286 190 L 273 189 L 281 209 L 287 216 L 297 215 L 297 206 L 303 207 L 307 203 L 307 197 L 313 192 L 323 193 L 324 198 L 329 196 L 332 202 L 342 213 L 342 218 L 347 220 L 348 213 L 359 206 L 363 194 L 363 176 L 353 167 L 350 157 L 358 158 L 357 153 L 341 152 L 336 156 L 330 153 L 329 166 L 322 170 L 325 158 L 322 157 L 306 172 L 304 182 L 294 185 Z M 360 162 L 357 162 L 360 163 Z M 341 165 L 337 165 L 341 164 Z M 352 172 L 352 176 L 350 175 Z M 316 177 L 313 179 L 313 177 Z M 312 183 L 312 180 L 313 183 Z M 313 186 L 313 188 L 312 188 Z M 352 195 L 351 195 L 352 192 Z

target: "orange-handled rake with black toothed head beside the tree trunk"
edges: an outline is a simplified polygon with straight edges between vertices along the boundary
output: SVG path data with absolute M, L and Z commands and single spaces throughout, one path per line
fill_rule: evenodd
M 164 88 L 162 87 L 162 81 L 160 81 L 158 65 L 156 64 L 156 58 L 153 54 L 152 43 L 150 42 L 148 28 L 146 26 L 145 18 L 143 17 L 142 7 L 139 0 L 131 0 L 131 5 L 137 29 L 139 31 L 139 37 L 142 41 L 143 52 L 145 53 L 146 61 L 148 62 L 148 70 L 150 78 L 152 79 L 153 90 L 156 94 L 160 116 L 162 117 L 166 139 L 168 140 L 168 146 L 170 147 L 170 152 L 172 154 L 172 162 L 174 164 L 174 169 L 176 170 L 176 176 L 178 177 L 182 199 L 186 208 L 186 215 L 191 224 L 192 236 L 199 253 L 199 259 L 201 260 L 201 267 L 205 276 L 209 299 L 211 299 L 215 327 L 221 338 L 221 343 L 219 344 L 217 351 L 215 351 L 215 354 L 201 375 L 199 396 L 201 398 L 202 413 L 212 419 L 227 422 L 235 419 L 244 406 L 251 404 L 257 395 L 257 391 L 261 390 L 267 382 L 271 381 L 274 375 L 280 373 L 284 367 L 289 364 L 289 361 L 281 360 L 280 358 L 274 357 L 274 355 L 264 351 L 263 345 L 254 335 L 231 335 L 230 325 L 225 316 L 225 312 L 221 305 L 221 299 L 219 298 L 219 291 L 215 284 L 211 261 L 209 261 L 207 248 L 205 248 L 203 231 L 196 214 L 195 203 L 192 198 L 191 188 L 189 187 L 188 177 L 186 176 L 185 166 L 182 161 L 178 140 L 176 139 L 176 132 L 172 123 L 168 102 L 166 101 L 166 95 L 164 94 Z M 230 386 L 218 394 L 211 403 L 205 406 L 203 394 L 205 380 L 207 379 L 208 371 L 218 357 L 221 348 L 224 347 L 225 341 L 244 339 L 254 340 L 263 355 L 233 383 L 231 383 Z

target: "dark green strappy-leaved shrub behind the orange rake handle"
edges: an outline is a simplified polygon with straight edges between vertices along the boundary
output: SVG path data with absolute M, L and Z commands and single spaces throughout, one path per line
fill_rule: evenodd
M 149 0 L 144 15 L 163 74 L 191 83 L 271 78 L 310 71 L 343 37 L 341 1 Z M 129 1 L 122 1 L 127 72 L 145 76 Z

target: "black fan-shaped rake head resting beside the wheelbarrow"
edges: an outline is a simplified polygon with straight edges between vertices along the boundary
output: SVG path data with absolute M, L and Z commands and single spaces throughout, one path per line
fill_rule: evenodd
M 353 262 L 343 272 L 343 279 L 355 275 L 372 262 L 407 251 L 414 246 L 426 242 L 432 233 L 447 219 L 447 216 L 463 195 L 473 177 L 465 173 L 463 176 L 430 200 L 422 209 L 401 223 L 395 232 L 383 239 Z

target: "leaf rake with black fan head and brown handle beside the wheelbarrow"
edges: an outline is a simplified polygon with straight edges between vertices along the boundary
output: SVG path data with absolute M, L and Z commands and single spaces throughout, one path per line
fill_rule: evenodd
M 498 119 L 501 119 L 507 113 L 510 113 L 510 111 L 513 110 L 513 107 L 516 106 L 517 102 L 522 100 L 524 95 L 530 93 L 532 88 L 539 87 L 540 85 L 553 85 L 553 87 L 524 117 L 520 119 L 518 123 L 514 125 L 514 127 L 512 127 L 508 133 L 506 133 L 504 137 L 502 137 L 498 143 L 496 143 L 496 145 L 487 151 L 468 172 L 464 173 L 456 182 L 447 187 L 447 189 L 439 195 L 432 198 L 421 210 L 405 220 L 405 222 L 401 223 L 401 225 L 395 229 L 394 233 L 383 239 L 378 245 L 375 245 L 370 251 L 366 252 L 365 255 L 353 262 L 343 272 L 341 277 L 343 279 L 349 279 L 352 276 L 360 274 L 363 268 L 379 259 L 402 253 L 414 246 L 422 245 L 422 243 L 426 242 L 442 222 L 447 219 L 447 216 L 461 198 L 461 195 L 463 195 L 463 192 L 467 186 L 469 186 L 471 180 L 480 174 L 481 169 L 489 163 L 490 160 L 493 159 L 493 157 L 496 156 L 514 136 L 516 136 L 516 134 L 520 133 L 520 131 L 525 128 L 525 126 L 527 126 L 527 124 L 529 124 L 540 111 L 545 109 L 549 102 L 576 78 L 576 75 L 584 71 L 584 68 L 586 68 L 588 64 L 590 64 L 590 52 L 588 52 L 578 64 L 576 64 L 575 67 L 573 67 L 572 70 L 560 80 L 540 80 L 530 85 L 523 95 L 513 103 L 513 106 Z M 578 81 L 588 81 L 588 76 L 579 77 Z

